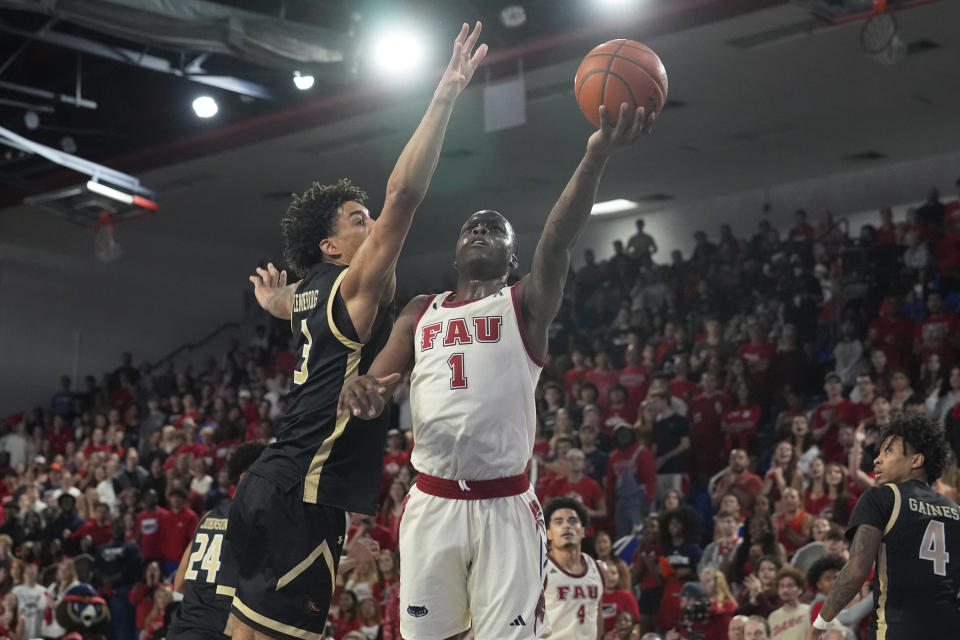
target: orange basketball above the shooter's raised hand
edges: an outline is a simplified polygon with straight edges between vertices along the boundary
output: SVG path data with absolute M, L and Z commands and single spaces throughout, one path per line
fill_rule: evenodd
M 620 105 L 645 106 L 659 113 L 667 101 L 667 70 L 652 49 L 619 38 L 594 47 L 577 68 L 574 79 L 577 104 L 593 126 L 600 126 L 600 105 L 616 124 Z

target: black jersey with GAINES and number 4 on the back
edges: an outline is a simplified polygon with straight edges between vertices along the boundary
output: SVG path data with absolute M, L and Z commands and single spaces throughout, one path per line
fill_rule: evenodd
M 960 634 L 960 507 L 911 480 L 868 489 L 847 527 L 883 532 L 874 568 L 877 640 Z

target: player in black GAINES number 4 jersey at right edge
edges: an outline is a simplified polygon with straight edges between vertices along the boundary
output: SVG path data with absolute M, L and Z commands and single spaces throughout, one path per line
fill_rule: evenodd
M 960 633 L 960 507 L 930 488 L 946 455 L 942 427 L 924 416 L 901 415 L 886 427 L 874 460 L 878 486 L 850 516 L 850 559 L 809 639 L 819 639 L 871 568 L 877 640 Z

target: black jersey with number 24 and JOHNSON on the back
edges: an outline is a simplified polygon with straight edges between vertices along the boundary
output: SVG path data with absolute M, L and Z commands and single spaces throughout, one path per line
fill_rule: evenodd
M 227 634 L 230 603 L 237 585 L 237 567 L 224 551 L 230 500 L 223 500 L 200 519 L 190 543 L 183 581 L 183 602 L 170 622 L 168 638 L 196 629 Z

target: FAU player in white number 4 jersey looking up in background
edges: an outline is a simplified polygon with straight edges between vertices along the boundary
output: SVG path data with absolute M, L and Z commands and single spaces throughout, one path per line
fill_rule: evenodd
M 603 573 L 597 561 L 580 551 L 589 524 L 586 509 L 574 498 L 554 498 L 544 508 L 550 566 L 547 569 L 547 619 L 550 637 L 600 640 L 603 637 Z

